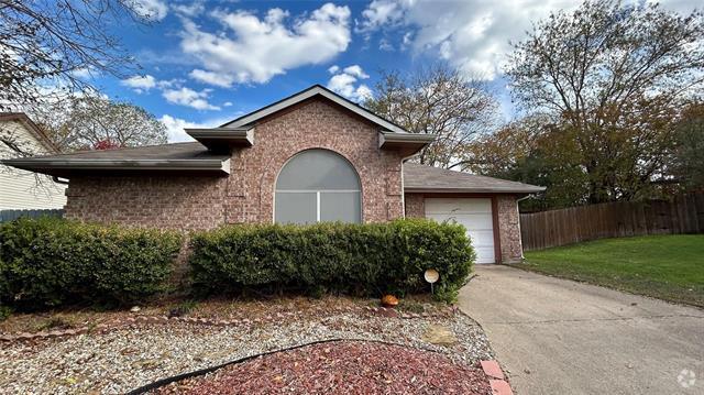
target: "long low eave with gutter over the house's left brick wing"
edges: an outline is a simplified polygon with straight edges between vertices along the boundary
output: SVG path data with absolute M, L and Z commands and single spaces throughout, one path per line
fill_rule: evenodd
M 82 158 L 14 158 L 0 161 L 3 165 L 48 174 L 52 176 L 70 176 L 72 174 L 90 174 L 106 171 L 117 174 L 170 173 L 202 174 L 226 176 L 230 174 L 230 158 L 198 160 L 82 160 Z

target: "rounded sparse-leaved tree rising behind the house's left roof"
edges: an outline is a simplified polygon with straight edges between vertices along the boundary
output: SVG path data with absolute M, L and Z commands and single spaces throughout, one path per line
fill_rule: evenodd
M 69 109 L 50 108 L 43 119 L 65 151 L 109 150 L 166 143 L 166 125 L 141 107 L 103 97 L 74 98 Z

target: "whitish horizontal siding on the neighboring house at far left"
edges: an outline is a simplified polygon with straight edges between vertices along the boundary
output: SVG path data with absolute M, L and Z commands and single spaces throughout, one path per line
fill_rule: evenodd
M 37 155 L 51 154 L 21 122 L 3 121 L 1 127 L 12 130 L 18 142 L 26 144 L 23 147 L 30 147 Z M 11 151 L 6 147 L 0 151 L 0 154 L 2 158 L 12 157 Z M 64 208 L 66 186 L 54 183 L 48 176 L 38 175 L 40 186 L 36 177 L 32 172 L 0 165 L 0 210 Z

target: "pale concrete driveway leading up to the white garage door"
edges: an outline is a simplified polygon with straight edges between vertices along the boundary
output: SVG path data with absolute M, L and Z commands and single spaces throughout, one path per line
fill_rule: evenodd
M 476 273 L 460 308 L 517 394 L 704 394 L 704 310 L 507 266 Z

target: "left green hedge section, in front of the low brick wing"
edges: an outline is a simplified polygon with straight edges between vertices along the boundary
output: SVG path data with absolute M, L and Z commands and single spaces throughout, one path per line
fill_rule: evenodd
M 0 305 L 128 304 L 164 289 L 182 238 L 57 218 L 0 224 Z

